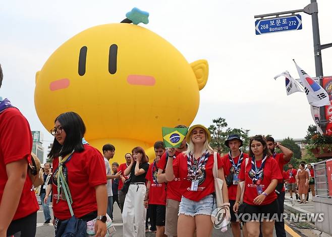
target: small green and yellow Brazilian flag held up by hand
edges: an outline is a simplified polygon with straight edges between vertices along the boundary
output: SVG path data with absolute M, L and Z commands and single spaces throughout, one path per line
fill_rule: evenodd
M 162 138 L 165 147 L 179 147 L 185 139 L 188 128 L 162 127 Z

